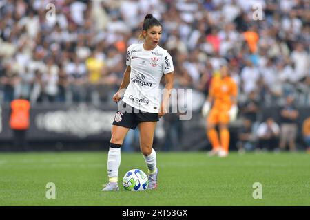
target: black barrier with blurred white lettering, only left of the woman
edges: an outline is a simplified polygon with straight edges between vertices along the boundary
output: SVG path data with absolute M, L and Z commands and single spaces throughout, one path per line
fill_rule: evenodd
M 35 106 L 30 110 L 30 141 L 105 140 L 110 138 L 116 109 L 86 104 Z M 0 140 L 12 139 L 10 109 L 2 108 Z

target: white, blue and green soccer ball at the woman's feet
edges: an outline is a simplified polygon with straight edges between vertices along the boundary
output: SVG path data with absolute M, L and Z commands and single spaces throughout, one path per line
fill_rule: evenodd
M 129 170 L 123 177 L 123 186 L 128 191 L 146 190 L 149 186 L 149 179 L 142 170 Z

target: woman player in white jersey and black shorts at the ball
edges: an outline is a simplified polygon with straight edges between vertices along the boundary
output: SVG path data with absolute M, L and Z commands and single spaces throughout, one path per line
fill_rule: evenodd
M 113 96 L 114 102 L 121 102 L 114 118 L 107 155 L 109 183 L 103 191 L 118 190 L 121 146 L 127 131 L 136 129 L 136 126 L 140 130 L 140 149 L 148 168 L 148 189 L 157 186 L 156 151 L 152 148 L 154 131 L 159 118 L 167 113 L 174 81 L 172 58 L 167 50 L 158 46 L 161 33 L 161 23 L 152 14 L 147 14 L 139 36 L 143 43 L 132 44 L 127 49 L 127 68 L 121 87 Z M 163 75 L 165 89 L 160 102 L 161 93 L 158 86 Z

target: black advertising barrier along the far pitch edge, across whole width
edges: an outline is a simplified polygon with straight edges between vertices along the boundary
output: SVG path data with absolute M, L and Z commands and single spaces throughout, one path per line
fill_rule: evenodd
M 39 143 L 42 148 L 44 145 L 53 145 L 59 142 L 75 143 L 75 146 L 92 142 L 108 148 L 116 108 L 116 105 L 103 105 L 100 107 L 89 104 L 70 106 L 59 104 L 36 105 L 30 110 L 30 129 L 27 132 L 27 140 L 32 143 Z M 0 107 L 0 111 L 0 145 L 3 145 L 3 143 L 12 141 L 13 133 L 9 127 L 9 107 Z M 297 142 L 302 144 L 302 122 L 310 116 L 310 107 L 301 107 L 299 111 Z M 279 115 L 280 108 L 276 107 L 264 108 L 260 112 L 261 120 L 264 120 L 267 116 L 273 116 L 276 122 L 279 122 Z M 158 122 L 154 139 L 154 147 L 162 149 L 166 142 L 165 133 L 169 132 L 169 127 L 163 120 L 161 118 L 160 122 Z M 178 137 L 177 146 L 170 146 L 166 150 L 197 151 L 211 148 L 205 135 L 205 119 L 202 118 L 200 112 L 194 112 L 191 120 L 178 123 L 178 126 L 182 126 L 182 135 Z M 240 120 L 237 120 L 229 127 L 231 149 L 236 149 L 238 128 L 240 126 L 242 124 Z

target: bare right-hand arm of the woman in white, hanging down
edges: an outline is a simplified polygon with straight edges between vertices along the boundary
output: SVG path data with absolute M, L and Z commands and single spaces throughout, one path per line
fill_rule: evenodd
M 162 117 L 169 110 L 169 98 L 171 96 L 172 89 L 174 87 L 174 72 L 165 74 L 165 90 L 163 93 L 163 100 L 161 102 L 161 109 L 159 111 L 159 117 Z

